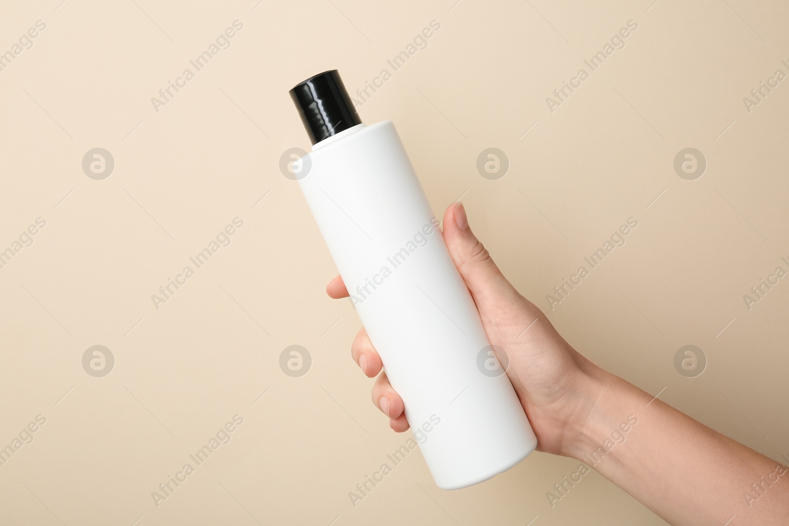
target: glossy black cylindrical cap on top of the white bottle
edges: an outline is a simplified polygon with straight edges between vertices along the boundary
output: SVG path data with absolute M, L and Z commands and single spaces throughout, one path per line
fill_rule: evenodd
M 312 144 L 361 124 L 336 69 L 311 76 L 290 90 Z

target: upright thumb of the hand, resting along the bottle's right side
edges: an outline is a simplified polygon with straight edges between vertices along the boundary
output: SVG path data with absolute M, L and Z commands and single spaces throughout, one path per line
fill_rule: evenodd
M 463 203 L 454 203 L 444 212 L 443 237 L 483 319 L 520 302 L 521 295 L 471 231 Z

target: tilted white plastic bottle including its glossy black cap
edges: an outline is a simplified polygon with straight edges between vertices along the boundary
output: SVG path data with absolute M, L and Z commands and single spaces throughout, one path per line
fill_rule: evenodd
M 336 70 L 290 95 L 313 144 L 299 185 L 436 484 L 518 464 L 537 438 L 394 125 L 362 124 Z

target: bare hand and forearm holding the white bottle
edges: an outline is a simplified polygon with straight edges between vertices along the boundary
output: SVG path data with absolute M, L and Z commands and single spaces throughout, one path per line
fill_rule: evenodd
M 507 375 L 537 435 L 537 450 L 592 464 L 589 455 L 632 415 L 638 423 L 627 431 L 626 446 L 612 447 L 593 468 L 668 523 L 789 524 L 787 468 L 581 356 L 496 267 L 472 233 L 462 203 L 444 213 L 443 237 L 488 339 L 507 350 Z M 339 276 L 327 293 L 348 297 Z M 378 375 L 373 404 L 394 431 L 406 431 L 402 398 L 381 372 L 364 328 L 351 356 L 365 375 Z

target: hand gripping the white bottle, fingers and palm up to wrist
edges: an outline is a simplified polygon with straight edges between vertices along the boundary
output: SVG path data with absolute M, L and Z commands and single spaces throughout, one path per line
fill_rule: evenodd
M 504 278 L 469 228 L 462 203 L 444 213 L 443 237 L 477 304 L 488 339 L 508 355 L 507 375 L 537 435 L 537 450 L 569 454 L 570 436 L 582 432 L 596 398 L 592 377 L 607 373 L 572 349 L 542 311 Z M 340 276 L 331 280 L 326 291 L 333 298 L 348 297 Z M 351 356 L 370 378 L 383 367 L 364 327 L 351 345 Z M 409 428 L 402 398 L 386 372 L 372 387 L 372 402 L 390 418 L 394 431 Z

